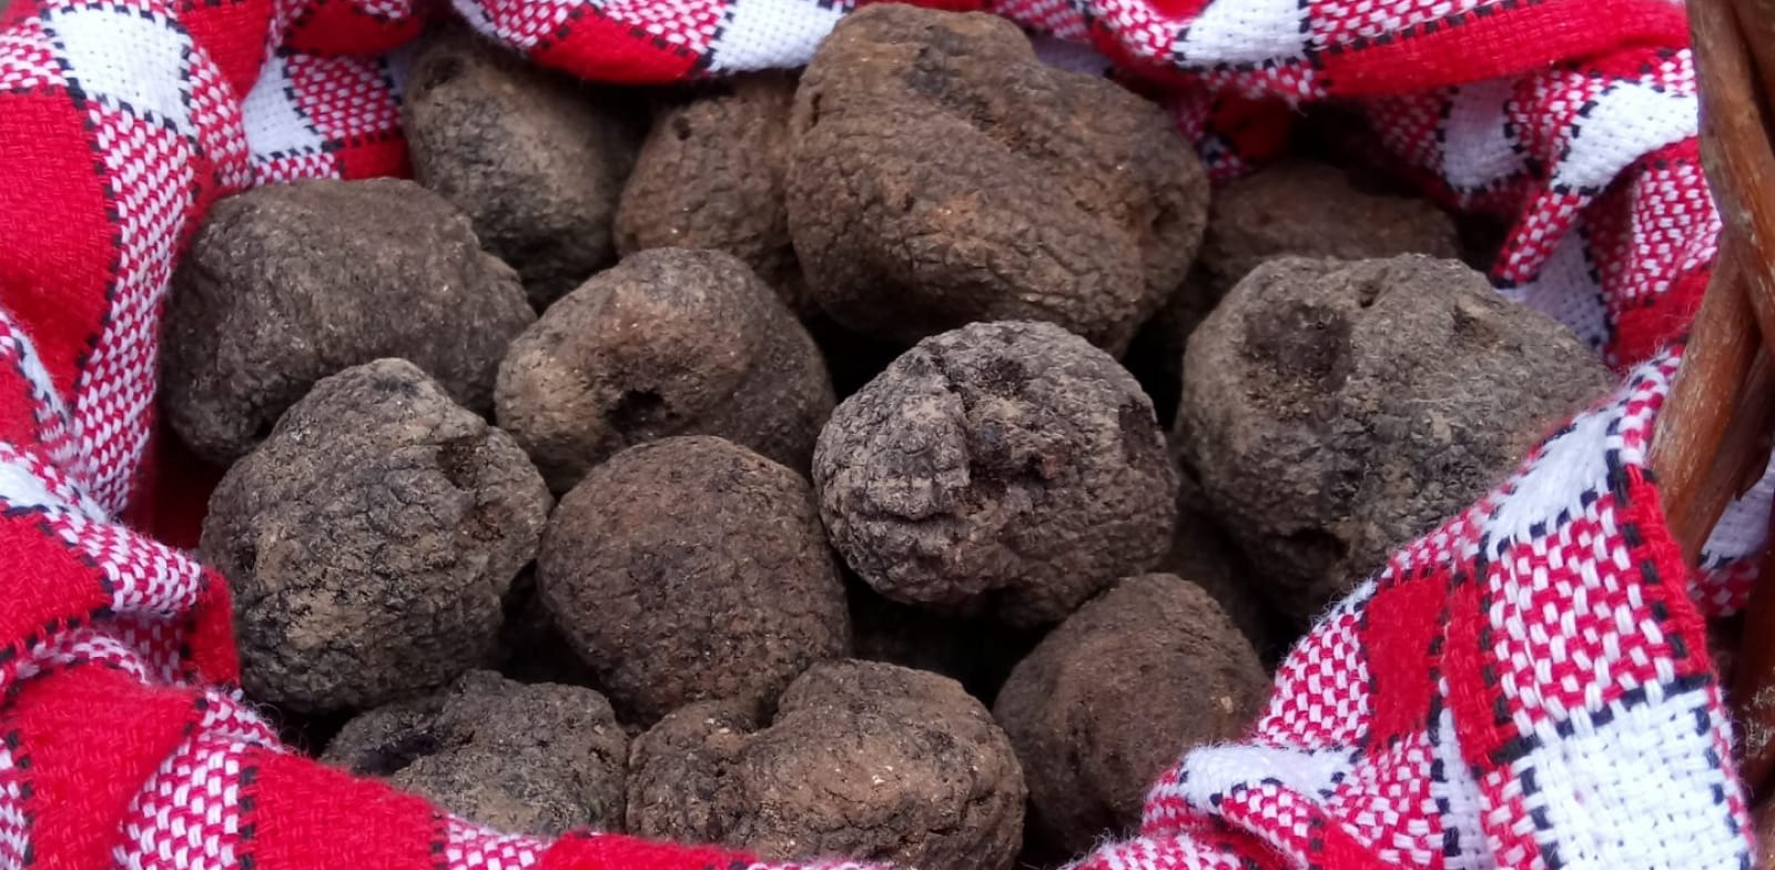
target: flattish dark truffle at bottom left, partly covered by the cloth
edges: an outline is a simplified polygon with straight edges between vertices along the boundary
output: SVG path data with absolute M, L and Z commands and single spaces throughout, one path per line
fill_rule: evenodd
M 449 689 L 366 712 L 321 760 L 504 831 L 623 824 L 628 735 L 602 694 L 469 671 Z

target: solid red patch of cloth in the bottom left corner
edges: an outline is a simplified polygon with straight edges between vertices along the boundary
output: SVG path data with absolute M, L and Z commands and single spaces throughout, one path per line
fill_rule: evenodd
M 41 866 L 112 866 L 130 801 L 199 717 L 197 692 L 149 689 L 96 664 L 23 684 L 0 732 L 28 758 L 25 811 Z

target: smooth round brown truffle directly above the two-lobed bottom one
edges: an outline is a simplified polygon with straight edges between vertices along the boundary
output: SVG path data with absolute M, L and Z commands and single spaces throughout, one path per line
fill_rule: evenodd
M 593 469 L 536 568 L 573 652 L 643 723 L 701 700 L 769 703 L 850 645 L 808 481 L 721 439 L 664 439 Z

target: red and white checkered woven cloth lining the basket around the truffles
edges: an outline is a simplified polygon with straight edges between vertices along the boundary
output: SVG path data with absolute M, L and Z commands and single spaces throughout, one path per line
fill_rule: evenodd
M 667 82 L 799 64 L 848 4 L 456 11 L 543 64 Z M 1051 57 L 1163 85 L 1223 176 L 1276 147 L 1278 108 L 1349 99 L 1432 195 L 1511 220 L 1500 291 L 1624 375 L 1328 613 L 1250 740 L 1184 756 L 1140 834 L 1081 866 L 1748 866 L 1702 616 L 1741 604 L 1775 479 L 1732 506 L 1697 573 L 1645 462 L 1718 234 L 1681 7 L 990 11 Z M 0 868 L 749 866 L 616 834 L 499 834 L 286 751 L 236 689 L 227 586 L 151 534 L 179 492 L 151 408 L 181 243 L 243 186 L 403 172 L 394 50 L 417 9 L 11 0 L 0 21 Z

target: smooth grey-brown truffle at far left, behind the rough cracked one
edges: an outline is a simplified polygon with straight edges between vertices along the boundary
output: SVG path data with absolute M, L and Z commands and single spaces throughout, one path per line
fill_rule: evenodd
M 172 281 L 163 410 L 229 463 L 314 382 L 412 360 L 493 407 L 499 359 L 536 314 L 469 220 L 412 181 L 298 181 L 218 201 Z

